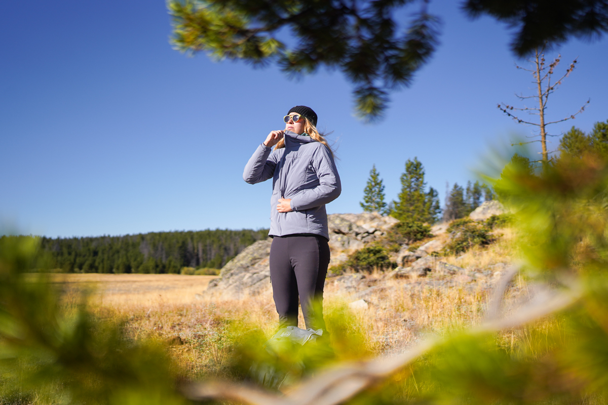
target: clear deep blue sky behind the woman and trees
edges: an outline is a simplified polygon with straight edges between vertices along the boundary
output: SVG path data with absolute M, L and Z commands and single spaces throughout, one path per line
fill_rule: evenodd
M 275 67 L 171 49 L 163 1 L 5 2 L 0 222 L 52 237 L 268 227 L 271 184 L 248 185 L 243 167 L 296 104 L 313 107 L 319 127 L 333 131 L 343 191 L 328 213 L 361 211 L 373 164 L 394 199 L 413 157 L 443 204 L 446 182 L 474 180 L 493 145 L 530 134 L 496 104 L 516 103 L 514 93 L 532 84 L 514 68 L 504 25 L 470 21 L 448 0 L 432 1 L 430 11 L 443 19 L 437 52 L 413 86 L 392 94 L 386 118 L 365 124 L 340 72 L 292 81 Z M 549 53 L 562 53 L 558 72 L 579 63 L 548 117 L 591 98 L 586 112 L 551 132 L 608 120 L 607 51 L 606 39 L 573 39 Z

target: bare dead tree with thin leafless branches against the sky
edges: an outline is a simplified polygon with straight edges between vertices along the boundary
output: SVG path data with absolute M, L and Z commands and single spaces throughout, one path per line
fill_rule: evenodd
M 553 151 L 550 152 L 547 149 L 547 137 L 559 136 L 559 134 L 558 135 L 548 134 L 547 126 L 551 125 L 551 124 L 560 123 L 562 121 L 573 120 L 576 115 L 580 114 L 581 112 L 583 112 L 585 110 L 585 107 L 587 106 L 587 104 L 589 104 L 590 100 L 587 100 L 587 102 L 585 104 L 583 104 L 582 107 L 575 114 L 570 115 L 570 117 L 566 117 L 566 118 L 563 118 L 558 121 L 547 122 L 547 120 L 545 120 L 545 112 L 547 111 L 547 101 L 549 100 L 549 95 L 553 94 L 553 92 L 562 84 L 562 81 L 564 80 L 564 78 L 566 78 L 566 77 L 568 77 L 568 75 L 570 75 L 570 72 L 572 72 L 572 70 L 574 70 L 574 68 L 575 68 L 577 60 L 575 59 L 570 64 L 570 66 L 568 67 L 568 69 L 566 70 L 564 75 L 562 75 L 562 77 L 560 77 L 554 83 L 551 82 L 551 78 L 553 77 L 553 73 L 555 72 L 556 67 L 558 67 L 559 62 L 561 61 L 561 55 L 558 55 L 558 57 L 555 58 L 553 60 L 553 62 L 551 62 L 550 64 L 546 64 L 545 63 L 545 47 L 543 46 L 542 48 L 536 48 L 536 50 L 534 51 L 534 58 L 527 59 L 527 61 L 531 63 L 532 69 L 525 69 L 524 67 L 521 67 L 518 65 L 516 65 L 516 68 L 532 73 L 532 76 L 534 77 L 534 81 L 532 83 L 536 85 L 536 93 L 534 95 L 530 95 L 530 96 L 524 96 L 523 94 L 520 94 L 520 95 L 516 94 L 516 97 L 519 98 L 519 100 L 521 100 L 521 101 L 536 98 L 538 101 L 538 107 L 528 107 L 528 106 L 524 105 L 522 108 L 517 108 L 514 106 L 510 106 L 508 104 L 505 104 L 505 103 L 500 103 L 500 104 L 498 104 L 498 108 L 500 109 L 500 111 L 504 112 L 506 115 L 513 118 L 513 120 L 517 121 L 518 123 L 528 124 L 528 125 L 533 125 L 533 126 L 538 127 L 538 133 L 535 135 L 532 135 L 528 138 L 540 137 L 540 139 L 533 140 L 530 142 L 524 142 L 524 143 L 540 142 L 541 146 L 542 146 L 542 152 L 541 152 L 542 153 L 542 162 L 546 163 L 549 160 L 549 154 L 551 152 L 553 152 Z M 519 116 L 515 115 L 515 113 L 513 111 L 525 111 L 525 112 L 528 112 L 528 114 L 530 114 L 530 115 L 538 115 L 539 122 L 531 122 L 531 121 L 523 120 Z

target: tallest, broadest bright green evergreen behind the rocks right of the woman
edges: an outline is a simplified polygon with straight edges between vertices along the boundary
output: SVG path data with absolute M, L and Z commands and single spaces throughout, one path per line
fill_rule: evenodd
M 424 166 L 417 157 L 407 160 L 401 174 L 401 192 L 393 201 L 391 215 L 401 221 L 434 223 L 441 212 L 438 193 L 434 188 L 425 192 Z

